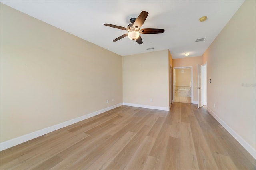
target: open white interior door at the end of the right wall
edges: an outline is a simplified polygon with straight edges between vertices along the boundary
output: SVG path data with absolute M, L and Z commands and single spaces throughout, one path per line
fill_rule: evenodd
M 202 107 L 204 105 L 204 91 L 202 90 L 204 77 L 204 66 L 197 65 L 197 94 L 198 94 L 198 104 L 197 107 Z

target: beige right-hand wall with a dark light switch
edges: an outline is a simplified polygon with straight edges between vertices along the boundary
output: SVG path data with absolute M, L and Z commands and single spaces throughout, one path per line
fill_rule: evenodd
M 256 149 L 256 1 L 245 1 L 202 56 L 207 107 Z M 215 104 L 215 107 L 214 107 Z M 255 152 L 254 152 L 255 154 Z

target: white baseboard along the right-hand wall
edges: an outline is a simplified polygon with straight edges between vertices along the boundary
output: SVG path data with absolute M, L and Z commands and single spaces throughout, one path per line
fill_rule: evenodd
M 232 128 L 230 128 L 218 115 L 214 113 L 209 107 L 207 107 L 208 112 L 224 127 L 244 148 L 249 152 L 254 159 L 256 159 L 256 150 L 248 144 L 239 134 L 237 134 Z

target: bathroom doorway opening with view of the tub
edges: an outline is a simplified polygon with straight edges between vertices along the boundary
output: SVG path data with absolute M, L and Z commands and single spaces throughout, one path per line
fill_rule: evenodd
M 174 102 L 191 103 L 192 101 L 192 67 L 174 68 Z

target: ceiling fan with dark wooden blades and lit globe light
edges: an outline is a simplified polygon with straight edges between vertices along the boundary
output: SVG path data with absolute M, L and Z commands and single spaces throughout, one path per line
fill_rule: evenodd
M 141 34 L 158 34 L 158 33 L 163 33 L 164 29 L 157 29 L 157 28 L 144 28 L 140 29 L 142 24 L 145 22 L 146 18 L 148 16 L 148 12 L 142 11 L 138 18 L 131 18 L 130 22 L 132 24 L 129 24 L 127 28 L 122 27 L 122 26 L 116 26 L 113 24 L 104 24 L 105 26 L 113 27 L 113 28 L 118 28 L 121 30 L 126 30 L 128 33 L 123 34 L 122 36 L 119 36 L 113 42 L 116 42 L 117 40 L 120 40 L 121 38 L 124 38 L 128 36 L 131 40 L 136 40 L 138 44 L 142 44 L 142 39 L 140 37 Z

